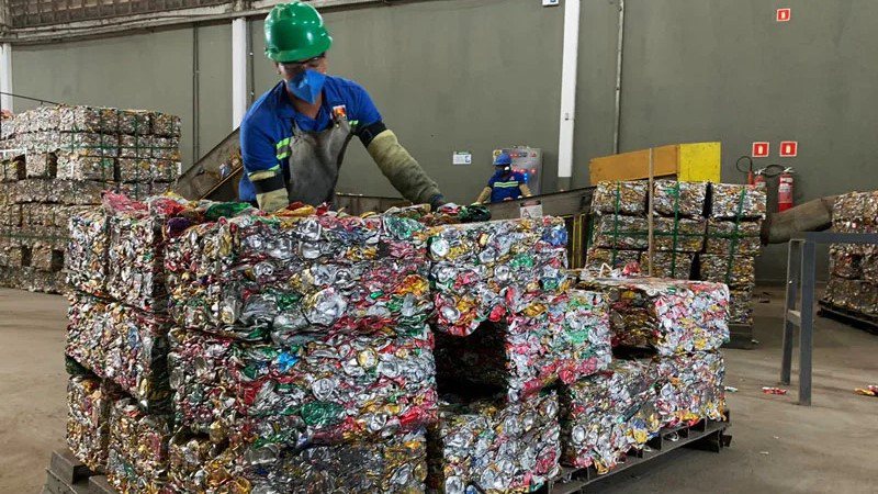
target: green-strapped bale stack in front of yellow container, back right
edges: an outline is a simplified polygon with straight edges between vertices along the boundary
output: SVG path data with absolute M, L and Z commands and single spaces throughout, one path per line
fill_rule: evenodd
M 599 273 L 648 262 L 648 182 L 601 182 L 592 203 L 586 267 Z M 654 182 L 653 276 L 716 281 L 731 289 L 731 322 L 752 324 L 755 258 L 765 217 L 764 186 Z

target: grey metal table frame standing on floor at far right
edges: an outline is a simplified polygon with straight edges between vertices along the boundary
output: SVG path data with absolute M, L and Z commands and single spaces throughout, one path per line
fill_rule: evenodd
M 790 383 L 792 330 L 799 327 L 799 404 L 811 406 L 811 370 L 814 350 L 814 269 L 817 244 L 878 244 L 878 234 L 806 232 L 789 240 L 787 296 L 784 304 L 784 358 L 780 382 Z M 798 296 L 801 301 L 796 308 Z

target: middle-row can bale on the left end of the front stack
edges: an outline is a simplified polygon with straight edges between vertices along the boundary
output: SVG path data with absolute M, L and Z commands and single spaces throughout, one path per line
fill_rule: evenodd
M 131 394 L 144 409 L 169 405 L 168 324 L 117 302 L 72 294 L 66 353 Z

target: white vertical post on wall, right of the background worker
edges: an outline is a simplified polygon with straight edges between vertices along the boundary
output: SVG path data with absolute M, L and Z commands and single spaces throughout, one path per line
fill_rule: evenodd
M 576 115 L 576 67 L 579 57 L 579 0 L 564 4 L 561 57 L 561 126 L 558 137 L 558 188 L 570 189 L 573 175 L 573 122 Z

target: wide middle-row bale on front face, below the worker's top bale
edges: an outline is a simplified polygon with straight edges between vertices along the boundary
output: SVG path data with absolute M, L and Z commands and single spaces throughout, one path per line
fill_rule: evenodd
M 177 422 L 292 447 L 414 430 L 436 418 L 432 336 L 302 335 L 289 346 L 175 330 Z

